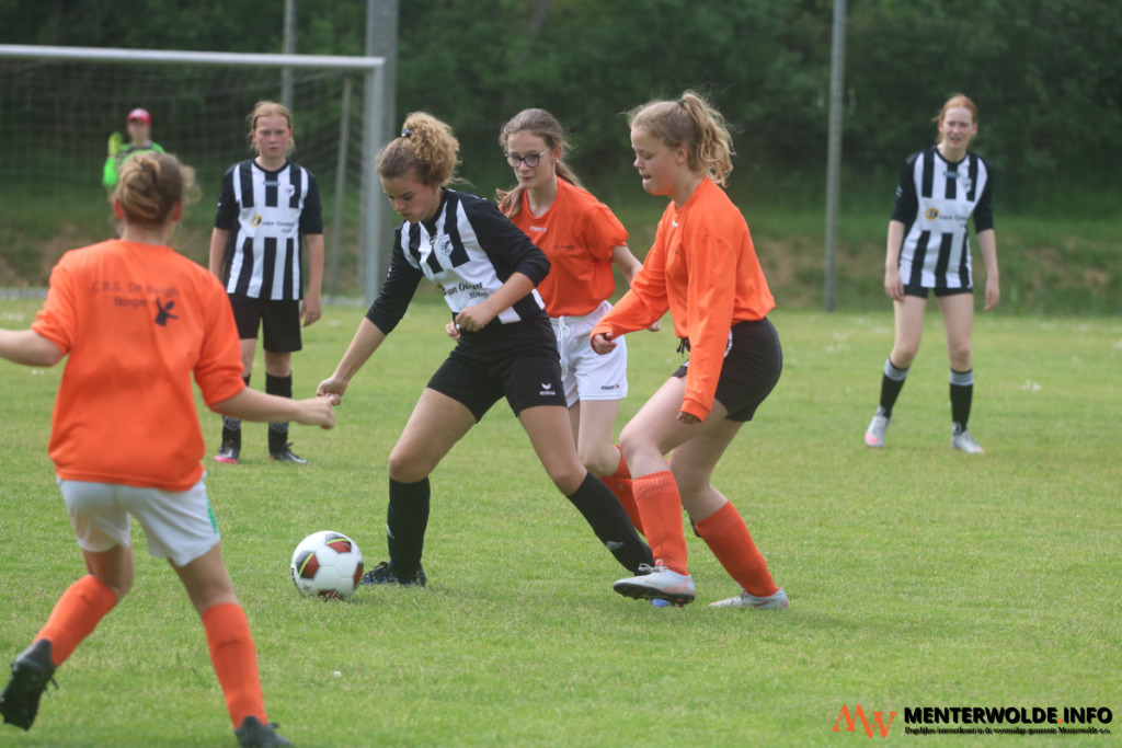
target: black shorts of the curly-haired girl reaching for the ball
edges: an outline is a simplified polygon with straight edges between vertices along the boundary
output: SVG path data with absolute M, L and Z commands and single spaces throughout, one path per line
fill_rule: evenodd
M 462 403 L 477 422 L 504 397 L 514 415 L 539 405 L 564 407 L 561 359 L 549 318 L 461 333 L 429 389 Z

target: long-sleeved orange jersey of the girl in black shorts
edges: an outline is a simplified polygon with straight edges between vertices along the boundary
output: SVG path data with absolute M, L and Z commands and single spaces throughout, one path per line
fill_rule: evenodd
M 643 330 L 668 308 L 674 334 L 690 341 L 682 410 L 705 419 L 712 409 L 729 330 L 775 308 L 748 224 L 712 179 L 702 179 L 681 209 L 673 202 L 666 205 L 631 290 L 591 334 Z

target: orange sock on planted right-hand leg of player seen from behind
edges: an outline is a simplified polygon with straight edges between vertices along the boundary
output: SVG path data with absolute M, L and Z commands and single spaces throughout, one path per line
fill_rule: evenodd
M 249 634 L 246 612 L 241 606 L 226 602 L 211 606 L 201 618 L 206 629 L 211 664 L 222 686 L 234 729 L 241 727 L 247 717 L 256 717 L 267 724 L 261 678 L 257 672 L 257 648 Z

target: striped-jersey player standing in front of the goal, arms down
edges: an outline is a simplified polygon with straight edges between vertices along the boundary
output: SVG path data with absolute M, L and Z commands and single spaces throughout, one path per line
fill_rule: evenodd
M 257 154 L 222 177 L 211 233 L 210 269 L 226 284 L 241 338 L 242 377 L 249 384 L 260 331 L 265 349 L 265 391 L 292 397 L 292 354 L 303 348 L 304 326 L 323 313 L 323 216 L 315 175 L 292 161 L 292 113 L 260 101 L 249 116 L 249 140 Z M 304 253 L 307 249 L 307 290 Z M 307 464 L 288 442 L 288 424 L 270 423 L 269 458 Z M 214 460 L 234 464 L 241 454 L 241 422 L 222 421 Z

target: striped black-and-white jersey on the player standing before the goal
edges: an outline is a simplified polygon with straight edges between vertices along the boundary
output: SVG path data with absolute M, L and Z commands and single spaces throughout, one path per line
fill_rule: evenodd
M 214 228 L 230 232 L 226 290 L 251 298 L 304 297 L 302 234 L 323 233 L 315 175 L 293 161 L 268 172 L 254 160 L 222 177 Z

